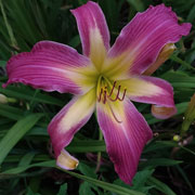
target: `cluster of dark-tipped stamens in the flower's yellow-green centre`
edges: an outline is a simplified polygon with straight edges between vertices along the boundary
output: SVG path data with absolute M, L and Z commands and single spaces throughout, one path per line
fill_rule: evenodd
M 96 87 L 99 102 L 105 104 L 107 100 L 112 102 L 123 101 L 127 89 L 122 89 L 120 84 L 117 84 L 117 81 L 112 82 L 102 75 L 99 77 Z

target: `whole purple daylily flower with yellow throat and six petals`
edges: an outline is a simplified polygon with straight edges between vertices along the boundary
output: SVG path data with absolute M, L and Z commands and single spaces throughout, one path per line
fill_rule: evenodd
M 78 165 L 64 147 L 96 110 L 115 170 L 121 180 L 131 183 L 141 152 L 153 135 L 131 101 L 176 113 L 172 87 L 143 73 L 157 61 L 165 46 L 188 34 L 191 24 L 179 24 L 176 13 L 164 4 L 150 6 L 135 15 L 109 48 L 108 27 L 95 2 L 89 1 L 72 13 L 83 55 L 68 46 L 41 41 L 31 52 L 8 62 L 6 84 L 23 82 L 44 91 L 74 94 L 49 125 L 56 164 L 64 169 Z

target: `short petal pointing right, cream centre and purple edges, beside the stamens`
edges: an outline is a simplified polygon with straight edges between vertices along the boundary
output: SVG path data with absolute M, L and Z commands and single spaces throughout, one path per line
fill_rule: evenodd
M 119 80 L 118 84 L 127 89 L 127 95 L 132 101 L 174 107 L 173 89 L 166 80 L 139 76 Z

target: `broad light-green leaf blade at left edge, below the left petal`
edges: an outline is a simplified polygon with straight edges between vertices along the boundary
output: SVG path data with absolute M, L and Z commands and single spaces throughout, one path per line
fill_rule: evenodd
M 0 164 L 4 160 L 9 152 L 14 145 L 30 130 L 37 121 L 42 117 L 42 114 L 31 114 L 18 120 L 4 135 L 0 142 Z

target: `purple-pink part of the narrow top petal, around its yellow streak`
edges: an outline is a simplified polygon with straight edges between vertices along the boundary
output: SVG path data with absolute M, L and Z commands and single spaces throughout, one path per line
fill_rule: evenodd
M 87 4 L 72 10 L 77 21 L 78 30 L 82 42 L 82 52 L 90 55 L 90 30 L 99 29 L 102 36 L 105 49 L 109 49 L 109 31 L 104 14 L 98 3 L 88 1 Z

